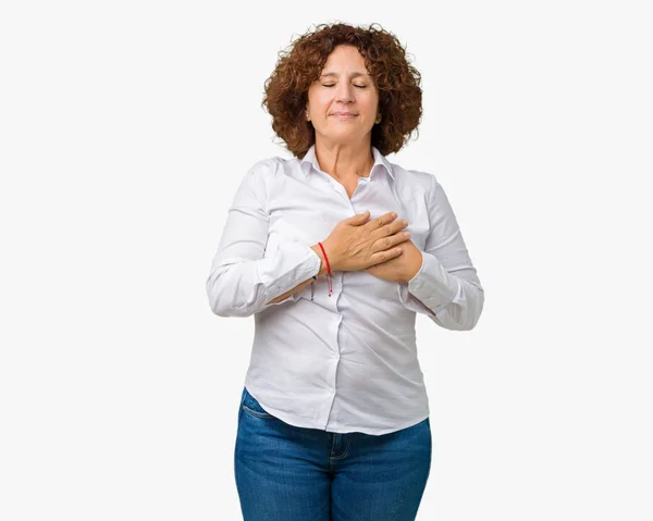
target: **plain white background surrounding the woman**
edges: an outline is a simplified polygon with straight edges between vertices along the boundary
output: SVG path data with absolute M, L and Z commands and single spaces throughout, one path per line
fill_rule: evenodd
M 8 1 L 0 8 L 0 518 L 238 520 L 254 319 L 205 293 L 260 106 L 315 24 L 422 74 L 389 159 L 446 190 L 485 289 L 418 317 L 418 520 L 653 519 L 648 2 Z M 428 11 L 424 11 L 428 9 Z

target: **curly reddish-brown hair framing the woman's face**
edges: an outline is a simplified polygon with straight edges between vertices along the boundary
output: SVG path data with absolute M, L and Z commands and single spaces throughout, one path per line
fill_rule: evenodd
M 316 141 L 315 128 L 304 116 L 308 87 L 320 77 L 338 45 L 358 49 L 379 91 L 382 120 L 372 127 L 371 145 L 383 156 L 398 152 L 421 119 L 421 75 L 406 60 L 399 40 L 379 24 L 367 28 L 320 24 L 280 51 L 276 66 L 266 79 L 261 103 L 272 115 L 272 129 L 288 151 L 304 158 Z

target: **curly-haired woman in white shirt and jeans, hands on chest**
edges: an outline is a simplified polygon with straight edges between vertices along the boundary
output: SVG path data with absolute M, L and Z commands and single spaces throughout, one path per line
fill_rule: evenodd
M 385 158 L 419 123 L 420 79 L 375 24 L 322 24 L 266 83 L 293 158 L 250 166 L 207 280 L 215 314 L 255 317 L 234 459 L 246 521 L 417 514 L 431 429 L 416 314 L 466 331 L 484 301 L 435 176 Z

